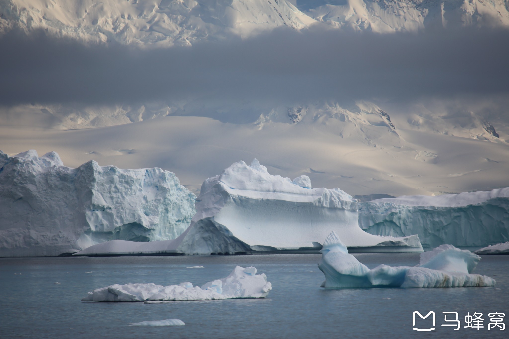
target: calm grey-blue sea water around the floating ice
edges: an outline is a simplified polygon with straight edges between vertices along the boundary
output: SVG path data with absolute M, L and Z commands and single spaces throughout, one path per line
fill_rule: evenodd
M 412 266 L 416 253 L 357 254 L 373 268 Z M 509 256 L 483 256 L 475 273 L 493 287 L 440 289 L 320 288 L 318 254 L 95 258 L 0 258 L 2 338 L 366 338 L 509 337 L 488 330 L 488 313 L 505 313 L 509 325 Z M 201 269 L 186 268 L 205 266 Z M 227 276 L 236 265 L 266 273 L 273 290 L 265 299 L 81 302 L 87 292 L 112 284 L 201 285 Z M 17 273 L 17 274 L 15 274 Z M 61 283 L 55 285 L 55 282 Z M 412 313 L 437 315 L 436 329 L 412 330 Z M 459 330 L 443 327 L 442 312 L 458 312 Z M 483 313 L 485 327 L 464 328 L 467 312 Z M 181 319 L 185 326 L 138 327 L 129 323 Z M 449 319 L 449 318 L 448 318 Z M 428 320 L 428 319 L 427 319 Z M 425 320 L 417 325 L 425 327 Z

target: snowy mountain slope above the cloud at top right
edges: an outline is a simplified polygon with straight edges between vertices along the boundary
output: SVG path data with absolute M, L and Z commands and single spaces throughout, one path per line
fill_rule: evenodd
M 506 0 L 298 0 L 297 7 L 333 27 L 391 33 L 467 25 L 509 25 Z

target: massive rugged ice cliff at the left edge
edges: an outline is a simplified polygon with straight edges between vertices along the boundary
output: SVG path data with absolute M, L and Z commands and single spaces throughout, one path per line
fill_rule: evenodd
M 112 239 L 175 239 L 195 196 L 160 168 L 95 161 L 64 166 L 55 152 L 0 151 L 0 257 L 56 256 Z

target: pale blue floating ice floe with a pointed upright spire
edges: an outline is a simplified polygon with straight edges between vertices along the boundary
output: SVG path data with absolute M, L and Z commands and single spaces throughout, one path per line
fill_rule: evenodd
M 325 288 L 362 287 L 470 287 L 494 286 L 495 280 L 486 275 L 470 274 L 480 257 L 453 245 L 441 245 L 420 255 L 414 267 L 380 265 L 369 269 L 353 255 L 331 232 L 323 244 L 318 268 L 324 273 Z

